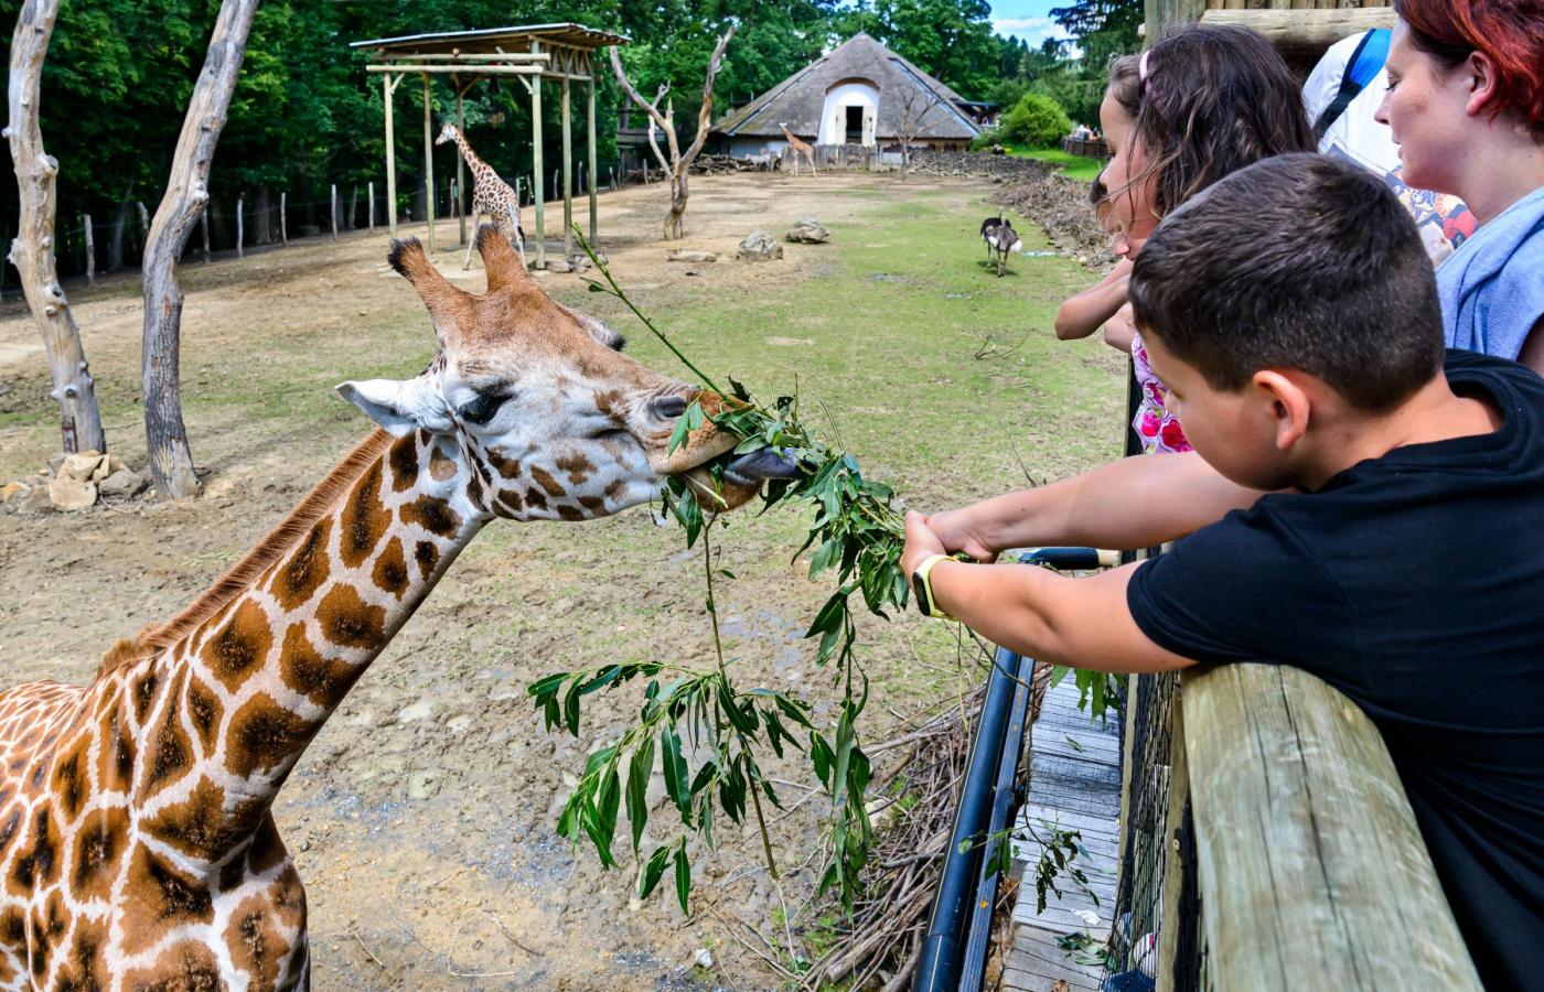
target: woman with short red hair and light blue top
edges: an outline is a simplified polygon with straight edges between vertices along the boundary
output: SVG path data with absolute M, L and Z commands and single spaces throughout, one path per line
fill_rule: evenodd
M 1479 230 L 1437 268 L 1448 347 L 1544 373 L 1544 0 L 1396 0 L 1377 119 Z

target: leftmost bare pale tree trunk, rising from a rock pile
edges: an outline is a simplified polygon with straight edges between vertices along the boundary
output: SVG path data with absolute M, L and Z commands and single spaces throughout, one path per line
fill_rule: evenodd
M 22 5 L 11 37 L 9 113 L 5 136 L 11 145 L 11 162 L 20 190 L 20 224 L 11 242 L 11 264 L 22 275 L 26 304 L 43 335 L 48 367 L 54 376 L 59 403 L 59 430 L 66 452 L 107 450 L 102 415 L 97 412 L 96 386 L 80 347 L 80 329 L 59 285 L 54 258 L 54 179 L 59 160 L 43 151 L 43 133 L 37 127 L 39 80 L 43 59 L 54 34 L 59 0 L 29 0 Z

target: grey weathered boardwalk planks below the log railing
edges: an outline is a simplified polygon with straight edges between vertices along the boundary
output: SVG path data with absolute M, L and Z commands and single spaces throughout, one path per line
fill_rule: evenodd
M 1048 835 L 1044 824 L 1078 830 L 1089 855 L 1087 861 L 1078 858 L 1082 862 L 1079 867 L 1089 876 L 1098 906 L 1082 887 L 1067 879 L 1061 886 L 1062 895 L 1047 893 L 1045 909 L 1038 912 L 1034 886 L 1031 879 L 1024 879 L 1013 909 L 1017 933 L 1004 964 L 1002 987 L 1010 992 L 1050 992 L 1053 983 L 1061 980 L 1070 992 L 1098 992 L 1104 972 L 1075 961 L 1056 944 L 1056 938 L 1084 929 L 1084 921 L 1075 915 L 1081 910 L 1093 910 L 1099 916 L 1098 926 L 1089 927 L 1095 941 L 1104 943 L 1110 935 L 1121 835 L 1119 727 L 1113 717 L 1107 724 L 1090 724 L 1089 714 L 1078 710 L 1078 687 L 1068 676 L 1045 693 L 1041 716 L 1030 733 L 1030 793 L 1014 835 L 1014 873 L 1033 873 L 1041 855 L 1030 824 L 1042 836 Z

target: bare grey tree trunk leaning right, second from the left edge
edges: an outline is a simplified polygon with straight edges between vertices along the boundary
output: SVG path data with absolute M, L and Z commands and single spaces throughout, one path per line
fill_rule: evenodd
M 178 258 L 193 224 L 208 202 L 208 167 L 225 127 L 225 110 L 236 86 L 247 34 L 258 0 L 224 0 L 204 57 L 204 71 L 188 99 L 188 113 L 171 159 L 167 194 L 156 208 L 145 248 L 145 443 L 156 488 L 173 498 L 198 495 L 187 429 L 182 426 L 182 390 L 178 352 L 182 336 L 182 287 Z M 207 230 L 207 228 L 205 228 Z

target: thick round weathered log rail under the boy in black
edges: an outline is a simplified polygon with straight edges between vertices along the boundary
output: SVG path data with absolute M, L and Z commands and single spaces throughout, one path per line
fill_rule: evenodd
M 1478 990 L 1366 714 L 1288 665 L 1190 670 L 1183 687 L 1214 987 Z

